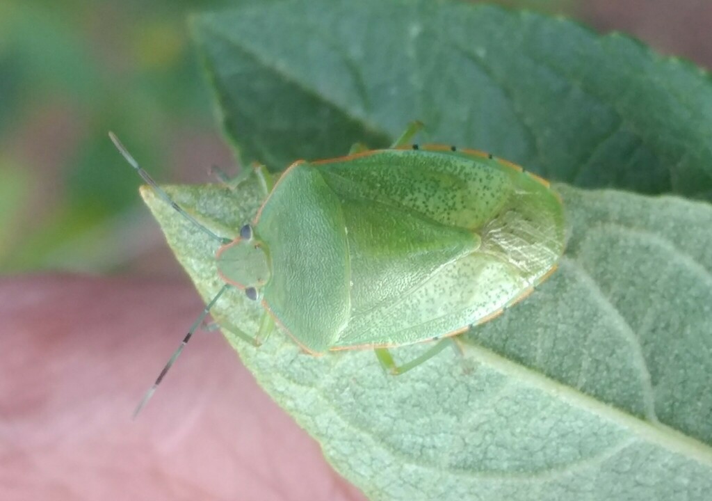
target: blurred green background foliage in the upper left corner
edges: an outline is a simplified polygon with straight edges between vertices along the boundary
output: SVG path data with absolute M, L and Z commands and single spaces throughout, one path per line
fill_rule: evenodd
M 100 251 L 139 183 L 116 168 L 107 132 L 159 177 L 175 133 L 211 133 L 185 17 L 222 3 L 1 4 L 0 271 L 121 266 Z

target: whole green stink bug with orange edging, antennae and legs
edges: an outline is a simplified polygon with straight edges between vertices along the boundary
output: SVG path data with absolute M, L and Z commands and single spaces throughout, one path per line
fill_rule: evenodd
M 162 381 L 226 289 L 261 301 L 260 345 L 275 329 L 306 353 L 374 349 L 403 373 L 525 298 L 564 250 L 560 197 L 521 167 L 476 150 L 409 145 L 413 123 L 391 148 L 294 162 L 239 237 L 226 239 L 184 212 L 111 139 L 159 197 L 219 242 L 216 273 L 225 285 L 209 301 L 137 408 Z M 387 348 L 437 341 L 397 366 Z

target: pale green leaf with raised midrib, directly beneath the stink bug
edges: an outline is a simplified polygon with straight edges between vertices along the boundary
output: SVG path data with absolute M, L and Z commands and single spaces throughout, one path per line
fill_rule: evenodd
M 572 232 L 560 269 L 522 304 L 402 376 L 371 351 L 260 348 L 225 332 L 263 388 L 372 500 L 705 500 L 712 490 L 712 207 L 558 185 Z M 226 237 L 260 189 L 169 194 Z M 204 299 L 216 242 L 143 197 Z M 198 314 L 199 312 L 196 312 Z M 238 291 L 219 321 L 256 332 Z M 424 346 L 397 348 L 410 358 Z

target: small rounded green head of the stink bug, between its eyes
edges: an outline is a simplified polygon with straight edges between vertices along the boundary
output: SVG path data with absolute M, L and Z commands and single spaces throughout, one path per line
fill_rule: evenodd
M 272 275 L 266 244 L 237 238 L 220 247 L 216 257 L 220 277 L 238 289 L 260 289 Z

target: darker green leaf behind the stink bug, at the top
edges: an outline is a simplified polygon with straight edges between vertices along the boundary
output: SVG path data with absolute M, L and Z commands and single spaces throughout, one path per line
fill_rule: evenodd
M 409 120 L 580 187 L 712 198 L 712 83 L 619 34 L 433 0 L 242 1 L 194 33 L 227 135 L 281 170 Z

